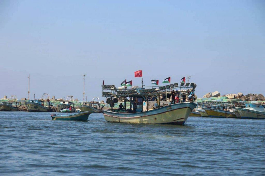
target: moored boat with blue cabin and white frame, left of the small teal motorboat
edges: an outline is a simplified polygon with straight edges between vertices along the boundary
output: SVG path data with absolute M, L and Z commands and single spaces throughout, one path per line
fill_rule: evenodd
M 45 98 L 47 97 L 47 98 Z M 46 106 L 45 106 L 46 104 Z M 39 100 L 29 100 L 25 103 L 29 112 L 51 112 L 49 94 L 43 94 Z

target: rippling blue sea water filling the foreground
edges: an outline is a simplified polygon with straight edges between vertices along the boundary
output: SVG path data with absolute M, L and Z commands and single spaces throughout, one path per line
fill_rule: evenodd
M 174 126 L 50 114 L 0 112 L 0 175 L 265 175 L 265 120 Z

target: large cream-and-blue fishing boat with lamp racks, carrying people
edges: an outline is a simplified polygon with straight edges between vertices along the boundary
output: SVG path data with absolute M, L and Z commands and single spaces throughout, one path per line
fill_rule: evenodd
M 114 85 L 103 85 L 102 96 L 109 98 L 109 105 L 113 107 L 114 99 L 119 98 L 124 101 L 124 110 L 110 109 L 103 110 L 104 118 L 108 122 L 118 123 L 146 123 L 146 124 L 177 124 L 184 125 L 187 122 L 192 110 L 196 107 L 193 102 L 170 104 L 167 102 L 167 97 L 170 96 L 172 89 L 180 89 L 181 94 L 187 94 L 189 91 L 194 91 L 196 84 L 189 83 L 184 86 L 178 86 L 178 83 L 170 84 L 152 89 L 132 88 L 131 90 L 117 90 Z M 182 90 L 181 90 L 182 89 Z M 185 90 L 186 89 L 186 90 Z M 104 90 L 111 90 L 106 92 Z M 127 99 L 129 98 L 129 99 Z M 151 99 L 156 99 L 156 103 Z M 166 104 L 161 104 L 160 101 L 166 99 Z M 130 108 L 126 109 L 126 102 L 130 102 Z M 152 108 L 149 108 L 152 104 Z M 146 108 L 143 108 L 145 106 Z

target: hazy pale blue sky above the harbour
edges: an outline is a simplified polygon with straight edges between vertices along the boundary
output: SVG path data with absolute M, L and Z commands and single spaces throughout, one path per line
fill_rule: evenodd
M 1 1 L 0 98 L 101 97 L 134 71 L 196 94 L 263 93 L 265 1 Z

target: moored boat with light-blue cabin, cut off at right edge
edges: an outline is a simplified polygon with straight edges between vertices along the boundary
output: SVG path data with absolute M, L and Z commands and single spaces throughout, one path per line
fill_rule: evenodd
M 245 119 L 265 119 L 265 108 L 262 104 L 246 104 L 246 108 L 236 108 L 241 118 Z

